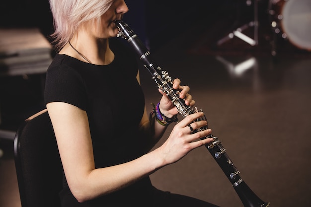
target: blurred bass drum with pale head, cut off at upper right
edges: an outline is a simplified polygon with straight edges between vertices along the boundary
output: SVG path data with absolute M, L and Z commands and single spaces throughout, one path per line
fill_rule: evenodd
M 273 32 L 311 51 L 311 0 L 269 0 Z

